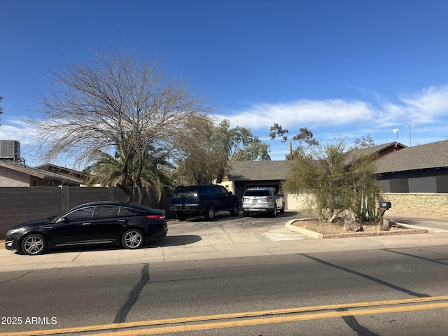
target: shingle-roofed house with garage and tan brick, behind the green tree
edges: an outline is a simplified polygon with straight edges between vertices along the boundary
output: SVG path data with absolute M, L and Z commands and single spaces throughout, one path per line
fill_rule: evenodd
M 363 148 L 377 155 L 378 182 L 393 212 L 448 218 L 448 141 L 407 147 L 398 142 Z M 356 158 L 349 153 L 349 160 Z M 288 173 L 288 161 L 230 162 L 221 183 L 241 196 L 250 186 L 280 188 Z M 286 209 L 304 209 L 304 195 L 285 194 Z

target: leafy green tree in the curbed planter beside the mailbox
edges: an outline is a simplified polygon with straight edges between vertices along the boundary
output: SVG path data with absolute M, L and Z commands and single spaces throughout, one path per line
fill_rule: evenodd
M 379 185 L 372 155 L 349 155 L 345 138 L 299 154 L 283 183 L 285 190 L 311 195 L 310 208 L 317 209 L 328 222 L 345 210 L 355 211 L 358 219 L 376 216 L 371 202 L 377 200 Z

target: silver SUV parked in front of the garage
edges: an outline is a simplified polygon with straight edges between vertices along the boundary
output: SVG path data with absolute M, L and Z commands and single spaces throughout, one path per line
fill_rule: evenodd
M 283 195 L 276 188 L 248 188 L 244 193 L 241 204 L 243 216 L 249 214 L 269 213 L 272 217 L 277 216 L 277 211 L 281 214 L 285 212 L 285 201 Z

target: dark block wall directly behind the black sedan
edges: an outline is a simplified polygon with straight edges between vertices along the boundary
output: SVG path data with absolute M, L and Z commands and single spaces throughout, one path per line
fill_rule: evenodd
M 153 193 L 151 194 L 153 195 Z M 165 190 L 160 202 L 151 197 L 144 205 L 166 209 L 167 217 L 174 218 L 169 211 L 171 193 Z M 134 202 L 139 202 L 134 193 Z M 116 187 L 7 187 L 0 188 L 0 239 L 6 231 L 21 223 L 48 218 L 75 207 L 78 204 L 95 201 L 127 200 L 127 196 Z

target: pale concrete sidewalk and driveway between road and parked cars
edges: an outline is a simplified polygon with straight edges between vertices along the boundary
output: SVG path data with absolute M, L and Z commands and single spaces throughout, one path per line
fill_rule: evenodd
M 435 229 L 435 233 L 388 235 L 339 239 L 314 239 L 292 232 L 285 225 L 275 228 L 242 228 L 209 222 L 201 225 L 172 223 L 168 236 L 153 241 L 146 248 L 131 251 L 104 248 L 84 251 L 52 251 L 44 255 L 18 255 L 0 249 L 1 272 L 31 271 L 63 267 L 123 265 L 145 262 L 170 262 L 215 258 L 238 258 L 256 255 L 319 253 L 323 251 L 353 251 L 359 249 L 404 248 L 409 246 L 446 245 L 448 220 L 409 214 L 385 214 L 385 219 L 412 223 Z M 400 221 L 399 221 L 400 220 Z

